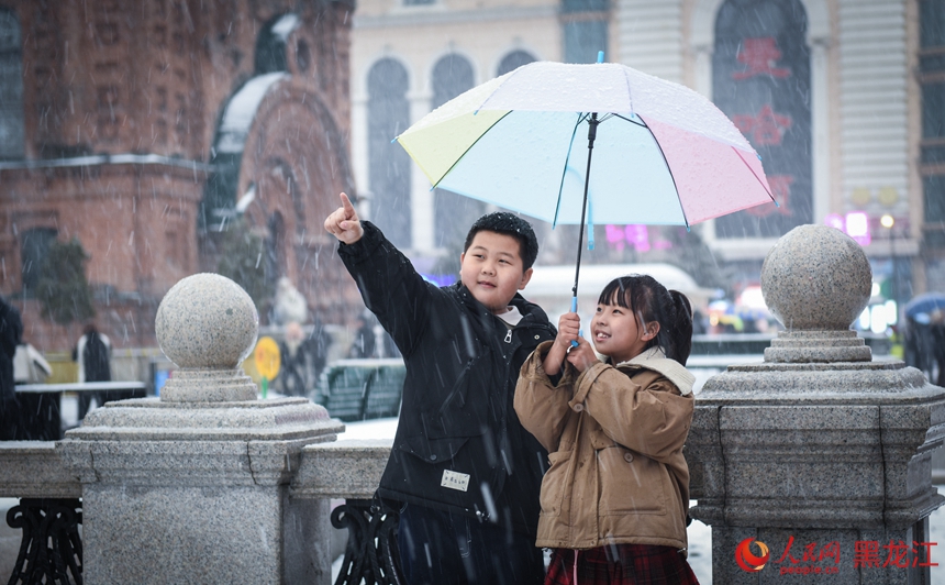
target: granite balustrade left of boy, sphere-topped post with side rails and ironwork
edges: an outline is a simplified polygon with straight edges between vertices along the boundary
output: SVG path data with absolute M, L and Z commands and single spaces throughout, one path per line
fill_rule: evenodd
M 332 444 L 344 424 L 323 407 L 257 398 L 238 367 L 258 331 L 248 295 L 194 275 L 155 325 L 177 365 L 159 398 L 105 404 L 62 441 L 0 446 L 0 493 L 21 498 L 10 523 L 29 541 L 11 577 L 326 585 L 332 525 L 355 532 L 362 558 L 381 553 L 348 559 L 360 574 L 392 574 L 383 543 L 397 516 L 370 504 L 390 445 Z M 347 503 L 332 511 L 332 498 Z M 378 533 L 381 548 L 369 545 Z

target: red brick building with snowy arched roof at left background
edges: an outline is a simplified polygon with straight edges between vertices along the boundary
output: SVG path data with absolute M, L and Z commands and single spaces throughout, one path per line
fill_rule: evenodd
M 344 313 L 357 292 L 322 222 L 353 187 L 352 10 L 0 3 L 0 294 L 22 308 L 32 343 L 78 338 L 81 323 L 44 322 L 35 300 L 51 243 L 73 238 L 119 345 L 154 345 L 167 289 L 223 255 L 248 258 L 270 289 L 287 276 L 312 309 Z

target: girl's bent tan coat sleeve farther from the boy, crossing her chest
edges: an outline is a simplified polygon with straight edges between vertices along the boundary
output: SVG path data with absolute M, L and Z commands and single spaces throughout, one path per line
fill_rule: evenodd
M 658 373 L 644 369 L 630 377 L 607 364 L 581 375 L 577 400 L 608 437 L 656 461 L 682 449 L 694 408 L 691 394 L 680 395 Z

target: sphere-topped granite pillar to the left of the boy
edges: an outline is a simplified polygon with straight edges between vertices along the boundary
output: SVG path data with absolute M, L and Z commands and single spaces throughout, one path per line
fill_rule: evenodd
M 82 484 L 85 582 L 330 583 L 327 501 L 288 487 L 302 448 L 344 427 L 257 399 L 240 364 L 258 317 L 232 280 L 180 280 L 155 324 L 178 366 L 160 398 L 107 404 L 58 444 Z

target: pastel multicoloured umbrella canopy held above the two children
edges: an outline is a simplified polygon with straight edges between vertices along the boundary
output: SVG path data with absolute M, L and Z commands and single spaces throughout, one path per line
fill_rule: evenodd
M 591 224 L 688 227 L 774 200 L 754 148 L 711 101 L 619 64 L 523 65 L 397 142 L 434 187 L 552 223 L 583 223 L 585 195 Z

